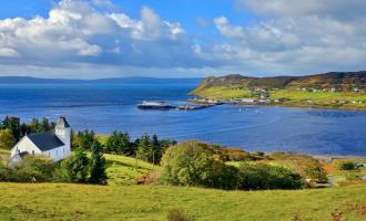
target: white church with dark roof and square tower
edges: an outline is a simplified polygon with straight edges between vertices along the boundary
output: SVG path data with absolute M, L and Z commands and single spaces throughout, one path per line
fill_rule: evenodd
M 11 149 L 11 162 L 27 155 L 44 155 L 59 161 L 71 152 L 71 127 L 65 117 L 60 117 L 54 129 L 26 135 Z

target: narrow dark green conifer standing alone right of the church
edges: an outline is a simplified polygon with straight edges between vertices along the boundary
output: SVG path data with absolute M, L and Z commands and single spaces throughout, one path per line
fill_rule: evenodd
M 105 159 L 98 144 L 92 146 L 92 159 L 89 182 L 94 185 L 106 185 Z

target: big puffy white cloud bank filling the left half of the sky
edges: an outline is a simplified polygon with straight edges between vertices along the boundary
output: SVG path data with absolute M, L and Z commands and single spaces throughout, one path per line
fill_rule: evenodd
M 110 4 L 110 1 L 94 1 Z M 196 66 L 179 22 L 142 7 L 141 18 L 105 12 L 82 0 L 62 0 L 48 18 L 0 20 L 0 63 L 96 63 L 156 67 Z M 10 57 L 17 61 L 10 61 Z

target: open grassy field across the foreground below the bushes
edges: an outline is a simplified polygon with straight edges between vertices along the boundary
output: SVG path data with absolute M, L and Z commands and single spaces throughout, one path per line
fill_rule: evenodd
M 164 220 L 181 208 L 197 220 L 365 220 L 366 186 L 296 191 L 222 191 L 163 186 L 0 183 L 0 220 Z

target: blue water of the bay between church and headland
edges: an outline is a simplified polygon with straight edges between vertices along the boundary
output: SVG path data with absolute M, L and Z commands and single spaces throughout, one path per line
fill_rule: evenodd
M 366 156 L 366 112 L 292 107 L 215 106 L 200 110 L 140 110 L 146 101 L 173 104 L 195 84 L 0 85 L 0 117 L 21 120 L 65 115 L 77 129 L 144 133 L 197 139 L 245 150 Z

